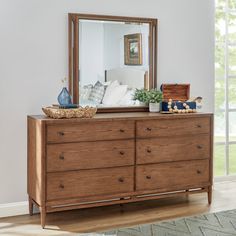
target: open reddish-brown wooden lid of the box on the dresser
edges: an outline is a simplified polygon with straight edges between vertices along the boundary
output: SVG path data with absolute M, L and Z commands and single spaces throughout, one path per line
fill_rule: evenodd
M 162 84 L 163 100 L 187 101 L 190 95 L 190 84 Z

